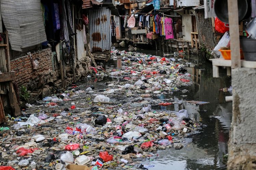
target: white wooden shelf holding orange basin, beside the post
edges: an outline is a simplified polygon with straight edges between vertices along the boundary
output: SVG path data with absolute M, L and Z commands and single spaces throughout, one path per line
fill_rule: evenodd
M 210 59 L 212 61 L 213 77 L 219 77 L 219 66 L 227 67 L 227 75 L 231 75 L 231 60 L 223 58 Z M 256 61 L 241 60 L 241 67 L 256 68 Z

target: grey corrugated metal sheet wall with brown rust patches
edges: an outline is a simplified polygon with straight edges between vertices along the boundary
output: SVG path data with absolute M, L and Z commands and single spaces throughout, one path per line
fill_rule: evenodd
M 91 52 L 111 49 L 110 15 L 106 7 L 89 11 Z

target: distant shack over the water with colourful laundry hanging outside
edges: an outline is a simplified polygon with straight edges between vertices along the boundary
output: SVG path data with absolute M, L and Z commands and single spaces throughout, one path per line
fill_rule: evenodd
M 148 0 L 141 10 L 132 14 L 136 18 L 136 24 L 134 28 L 126 28 L 125 38 L 135 44 L 154 43 L 157 49 L 164 51 L 171 51 L 172 48 L 177 51 L 180 51 L 180 49 L 184 51 L 190 46 L 198 49 L 197 23 L 193 7 L 199 5 L 199 0 Z M 148 16 L 153 18 L 152 25 L 150 21 L 147 21 Z M 167 20 L 170 18 L 172 25 L 170 30 L 172 35 L 168 38 L 165 35 L 165 18 Z M 145 25 L 145 22 L 148 25 Z M 146 37 L 147 34 L 148 37 Z

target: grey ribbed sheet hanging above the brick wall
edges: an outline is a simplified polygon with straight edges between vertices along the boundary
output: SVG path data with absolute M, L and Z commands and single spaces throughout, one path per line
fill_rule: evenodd
M 46 41 L 40 0 L 1 0 L 1 13 L 12 50 Z

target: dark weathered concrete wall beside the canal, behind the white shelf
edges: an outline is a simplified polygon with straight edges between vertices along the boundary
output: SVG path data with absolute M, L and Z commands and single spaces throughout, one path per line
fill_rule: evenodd
M 204 45 L 208 49 L 214 49 L 211 18 L 204 19 L 204 9 L 195 10 L 195 14 L 200 46 Z

